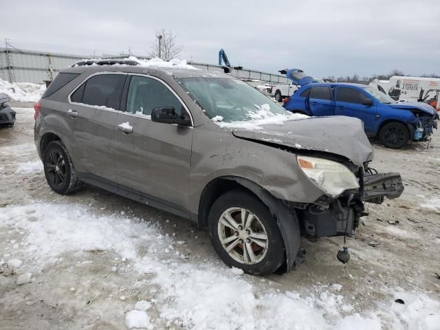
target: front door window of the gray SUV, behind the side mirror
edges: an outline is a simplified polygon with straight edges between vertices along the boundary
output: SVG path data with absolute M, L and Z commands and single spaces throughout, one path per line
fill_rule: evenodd
M 183 104 L 164 84 L 153 78 L 131 76 L 126 112 L 150 116 L 160 107 L 173 107 L 177 115 L 183 111 Z

